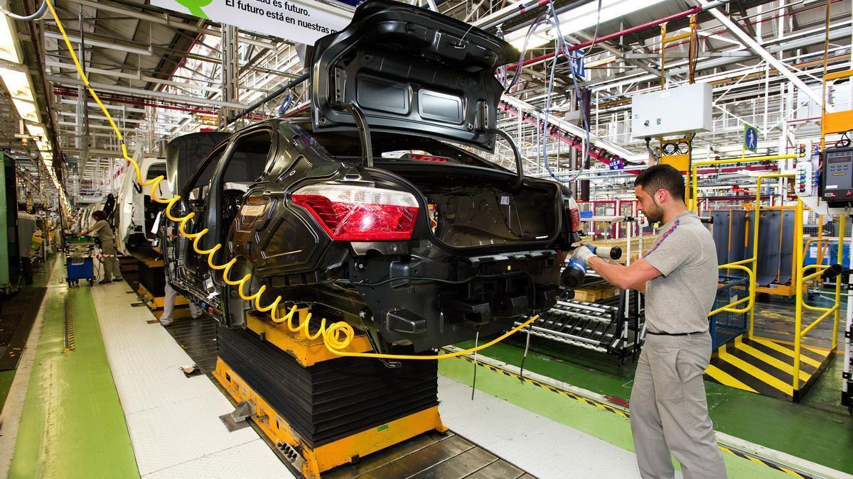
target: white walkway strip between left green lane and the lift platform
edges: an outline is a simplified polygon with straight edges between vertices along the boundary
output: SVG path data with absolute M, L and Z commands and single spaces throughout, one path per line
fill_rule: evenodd
M 254 430 L 225 429 L 230 401 L 206 376 L 179 371 L 189 355 L 125 291 L 124 282 L 95 286 L 92 299 L 140 475 L 291 477 Z

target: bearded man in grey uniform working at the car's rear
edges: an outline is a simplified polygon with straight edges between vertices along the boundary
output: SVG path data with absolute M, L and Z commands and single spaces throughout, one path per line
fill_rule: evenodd
M 717 248 L 711 232 L 684 204 L 684 178 L 668 164 L 634 182 L 649 222 L 663 222 L 654 246 L 630 267 L 581 246 L 573 256 L 623 289 L 646 294 L 646 343 L 631 390 L 631 431 L 643 477 L 725 477 L 708 417 L 703 373 L 711 360 L 708 314 L 717 296 Z

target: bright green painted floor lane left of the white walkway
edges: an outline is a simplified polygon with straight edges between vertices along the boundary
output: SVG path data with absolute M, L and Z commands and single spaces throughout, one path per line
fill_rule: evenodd
M 138 477 L 89 287 L 69 289 L 55 260 L 38 269 L 39 285 L 49 289 L 9 477 Z M 71 351 L 65 348 L 66 297 L 73 317 Z

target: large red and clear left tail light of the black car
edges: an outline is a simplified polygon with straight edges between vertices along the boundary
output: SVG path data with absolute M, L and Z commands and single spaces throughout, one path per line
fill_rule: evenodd
M 336 241 L 409 240 L 418 216 L 415 196 L 346 185 L 311 185 L 293 193 Z

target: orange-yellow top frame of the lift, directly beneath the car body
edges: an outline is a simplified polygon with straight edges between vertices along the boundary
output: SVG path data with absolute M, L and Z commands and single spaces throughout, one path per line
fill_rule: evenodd
M 297 309 L 296 314 L 299 315 L 297 324 L 302 324 L 310 308 Z M 322 337 L 313 339 L 306 338 L 305 335 L 299 332 L 293 332 L 287 327 L 287 321 L 275 323 L 270 318 L 264 318 L 254 315 L 246 316 L 246 326 L 256 334 L 264 338 L 265 341 L 273 344 L 276 348 L 281 349 L 299 362 L 303 367 L 313 366 L 318 362 L 329 361 L 339 358 L 339 355 L 334 355 L 328 350 L 326 344 L 323 343 Z M 358 334 L 352 338 L 352 343 L 342 351 L 351 353 L 368 353 L 373 350 L 368 337 L 364 334 Z

